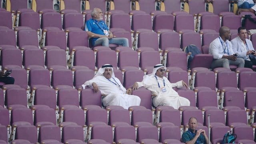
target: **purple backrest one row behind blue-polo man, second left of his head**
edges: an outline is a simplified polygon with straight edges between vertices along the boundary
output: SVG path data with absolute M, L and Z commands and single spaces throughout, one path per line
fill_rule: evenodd
M 45 12 L 42 14 L 41 28 L 57 27 L 62 29 L 61 15 L 59 12 Z

